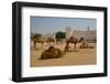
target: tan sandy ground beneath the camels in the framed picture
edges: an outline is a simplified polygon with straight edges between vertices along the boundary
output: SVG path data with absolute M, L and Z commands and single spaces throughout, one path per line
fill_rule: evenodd
M 80 44 L 77 44 L 77 52 L 74 52 L 74 44 L 70 44 L 70 52 L 67 52 L 62 59 L 50 59 L 40 60 L 41 53 L 48 48 L 47 44 L 43 46 L 36 44 L 36 50 L 31 48 L 31 67 L 37 66 L 62 66 L 62 65 L 87 65 L 97 63 L 96 44 L 89 43 L 89 45 L 95 46 L 95 49 L 78 49 Z M 54 44 L 55 48 L 59 48 L 62 51 L 65 44 Z

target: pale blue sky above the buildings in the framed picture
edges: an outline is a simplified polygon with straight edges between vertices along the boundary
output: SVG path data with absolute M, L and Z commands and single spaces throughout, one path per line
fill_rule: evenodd
M 97 20 L 85 18 L 31 17 L 31 31 L 34 33 L 55 33 L 57 31 L 65 31 L 66 27 L 80 31 L 87 30 L 88 27 L 90 30 L 96 30 Z

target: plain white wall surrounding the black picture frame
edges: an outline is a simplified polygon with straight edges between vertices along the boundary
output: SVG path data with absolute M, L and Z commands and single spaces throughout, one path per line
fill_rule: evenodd
M 12 62 L 11 60 L 12 59 L 11 3 L 13 1 L 15 0 L 0 1 L 0 39 L 1 39 L 0 40 L 0 84 L 15 84 L 14 82 L 11 81 L 11 62 Z M 23 0 L 23 1 L 108 7 L 108 12 L 110 14 L 110 0 Z M 108 17 L 108 22 L 110 22 L 110 15 Z M 110 29 L 108 29 L 108 31 L 110 32 Z M 110 49 L 110 38 L 108 41 L 109 41 L 108 49 Z M 108 63 L 110 64 L 110 56 Z M 110 74 L 110 65 L 108 66 L 109 66 L 109 74 Z M 29 82 L 28 84 L 34 84 L 34 83 L 36 82 Z M 82 83 L 84 84 L 97 84 L 97 83 L 109 84 L 110 75 L 108 77 L 92 77 L 92 78 L 77 78 L 77 80 L 72 78 L 72 80 L 62 80 L 62 81 L 37 82 L 37 84 L 82 84 Z

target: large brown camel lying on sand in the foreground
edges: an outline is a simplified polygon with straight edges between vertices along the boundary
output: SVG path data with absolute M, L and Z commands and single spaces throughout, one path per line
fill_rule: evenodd
M 64 52 L 57 48 L 50 46 L 47 50 L 43 51 L 41 54 L 41 60 L 47 59 L 58 59 L 64 56 Z

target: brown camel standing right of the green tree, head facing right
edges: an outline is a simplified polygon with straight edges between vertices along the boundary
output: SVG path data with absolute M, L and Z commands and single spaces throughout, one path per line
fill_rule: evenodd
M 66 46 L 65 46 L 65 51 L 68 51 L 69 49 L 69 43 L 74 43 L 74 51 L 76 51 L 76 44 L 77 43 L 80 43 L 81 41 L 84 41 L 84 38 L 80 38 L 79 40 L 74 38 L 74 36 L 70 36 L 67 41 L 66 41 Z

